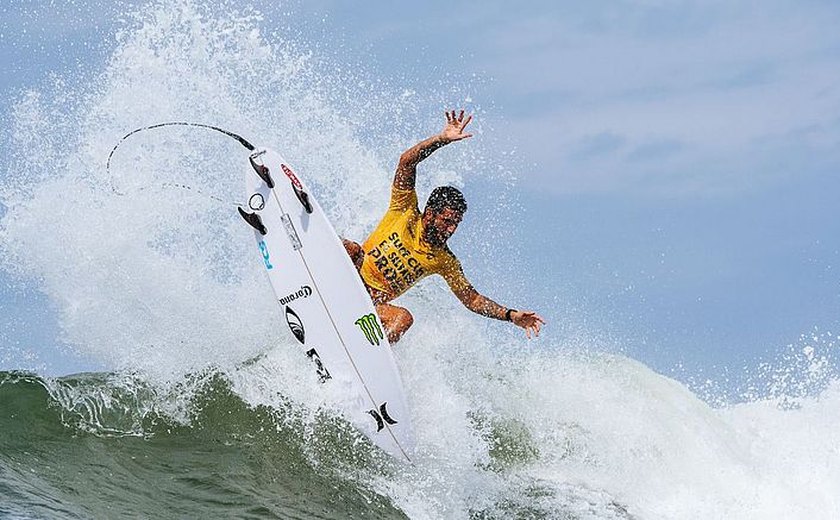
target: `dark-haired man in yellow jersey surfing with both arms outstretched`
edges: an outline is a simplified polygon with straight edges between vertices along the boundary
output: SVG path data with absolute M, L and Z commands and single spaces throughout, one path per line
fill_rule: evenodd
M 391 202 L 379 225 L 363 245 L 344 240 L 392 344 L 411 327 L 414 317 L 408 309 L 389 302 L 430 274 L 442 276 L 467 309 L 510 321 L 525 329 L 528 338 L 538 336 L 545 324 L 535 312 L 499 305 L 467 280 L 461 263 L 447 246 L 467 211 L 460 190 L 452 186 L 435 188 L 420 212 L 415 191 L 417 165 L 438 148 L 472 137 L 464 131 L 470 121 L 472 115 L 464 118 L 463 110 L 457 115 L 454 110 L 446 112 L 446 125 L 439 134 L 403 152 L 391 186 Z

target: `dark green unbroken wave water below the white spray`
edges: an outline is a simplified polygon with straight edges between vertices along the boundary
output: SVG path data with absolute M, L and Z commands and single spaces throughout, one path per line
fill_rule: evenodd
M 142 392 L 59 401 L 108 377 L 56 389 L 0 373 L 0 517 L 405 518 L 360 483 L 383 464 L 346 425 L 324 418 L 313 434 L 291 407 L 249 407 L 221 377 L 190 398 L 186 421 L 143 409 Z

